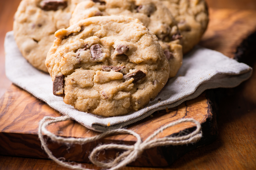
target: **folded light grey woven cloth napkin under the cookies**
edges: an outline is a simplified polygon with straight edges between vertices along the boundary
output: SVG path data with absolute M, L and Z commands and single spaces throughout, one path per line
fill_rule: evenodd
M 14 84 L 61 114 L 100 132 L 122 128 L 166 107 L 176 107 L 184 101 L 196 98 L 206 89 L 236 87 L 252 74 L 252 68 L 248 65 L 230 59 L 222 53 L 196 46 L 184 56 L 177 76 L 169 79 L 154 101 L 139 111 L 123 116 L 101 117 L 78 111 L 73 106 L 65 104 L 61 97 L 54 96 L 50 75 L 32 67 L 22 57 L 13 32 L 6 34 L 4 48 L 6 76 Z

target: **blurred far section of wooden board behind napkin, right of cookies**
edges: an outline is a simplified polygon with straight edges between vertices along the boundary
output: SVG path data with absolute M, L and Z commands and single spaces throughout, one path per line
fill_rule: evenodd
M 233 58 L 237 47 L 256 31 L 256 11 L 210 9 L 210 22 L 201 46 Z

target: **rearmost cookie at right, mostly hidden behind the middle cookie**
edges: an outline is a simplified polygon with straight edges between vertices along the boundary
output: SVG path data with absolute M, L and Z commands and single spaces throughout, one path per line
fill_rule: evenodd
M 204 0 L 161 0 L 178 23 L 183 53 L 199 43 L 208 25 L 208 10 Z

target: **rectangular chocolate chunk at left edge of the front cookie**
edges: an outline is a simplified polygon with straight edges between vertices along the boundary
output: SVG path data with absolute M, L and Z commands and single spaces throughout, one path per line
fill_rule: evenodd
M 63 97 L 64 95 L 64 75 L 55 76 L 52 84 L 52 91 L 55 96 Z

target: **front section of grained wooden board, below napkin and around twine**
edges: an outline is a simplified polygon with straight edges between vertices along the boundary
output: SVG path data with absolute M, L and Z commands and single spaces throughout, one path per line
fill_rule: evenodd
M 58 112 L 47 106 L 44 102 L 36 99 L 26 91 L 12 85 L 0 99 L 0 152 L 5 155 L 28 156 L 48 158 L 41 149 L 41 143 L 37 136 L 38 124 L 45 116 L 60 116 Z M 148 149 L 141 158 L 131 165 L 134 166 L 168 166 L 184 153 L 200 145 L 209 143 L 217 136 L 216 119 L 212 114 L 212 107 L 205 93 L 194 100 L 182 103 L 171 110 L 153 113 L 141 121 L 131 124 L 127 129 L 138 133 L 145 140 L 153 131 L 174 120 L 180 118 L 194 118 L 205 126 L 204 138 L 196 145 L 173 147 L 157 147 Z M 205 125 L 204 125 L 205 124 Z M 168 128 L 157 135 L 158 138 L 174 135 L 180 131 L 188 131 L 194 127 L 191 123 L 183 123 Z M 75 121 L 66 121 L 53 124 L 48 128 L 56 135 L 63 137 L 92 137 L 98 132 L 89 130 Z M 190 129 L 192 131 L 192 129 Z M 116 135 L 98 140 L 87 145 L 74 145 L 68 147 L 63 144 L 48 141 L 48 147 L 56 157 L 64 157 L 67 160 L 89 162 L 89 151 L 92 151 L 99 143 L 119 143 L 132 145 L 136 138 L 131 135 Z M 106 152 L 102 157 L 114 158 L 116 153 L 112 150 Z M 173 154 L 171 153 L 173 152 Z

